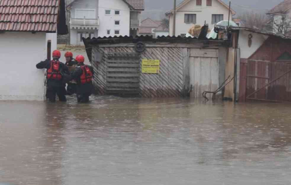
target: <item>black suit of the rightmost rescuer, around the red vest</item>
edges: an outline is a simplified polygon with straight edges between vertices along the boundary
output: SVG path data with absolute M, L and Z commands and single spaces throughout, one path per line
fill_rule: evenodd
M 84 65 L 84 64 L 83 64 Z M 72 73 L 70 80 L 75 79 L 77 81 L 78 84 L 78 89 L 77 89 L 77 94 L 91 94 L 92 90 L 93 90 L 93 83 L 85 83 L 85 84 L 81 84 L 81 75 L 83 74 L 83 70 L 81 69 L 81 66 L 83 65 L 79 65 L 75 71 Z M 94 70 L 92 66 L 89 66 L 89 69 L 91 70 L 92 74 L 93 74 L 93 78 L 94 78 Z

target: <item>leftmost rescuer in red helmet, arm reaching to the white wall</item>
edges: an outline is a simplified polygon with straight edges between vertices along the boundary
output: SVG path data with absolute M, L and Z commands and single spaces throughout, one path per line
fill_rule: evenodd
M 36 65 L 38 69 L 46 70 L 46 97 L 49 98 L 50 102 L 56 101 L 56 94 L 59 100 L 62 102 L 67 101 L 65 83 L 63 83 L 63 76 L 67 73 L 68 67 L 59 61 L 61 52 L 54 50 L 52 52 L 53 60 L 41 61 Z

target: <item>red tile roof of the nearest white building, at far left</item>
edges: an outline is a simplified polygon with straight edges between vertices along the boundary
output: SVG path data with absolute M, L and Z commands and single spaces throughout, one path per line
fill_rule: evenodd
M 0 0 L 0 30 L 56 32 L 60 0 Z

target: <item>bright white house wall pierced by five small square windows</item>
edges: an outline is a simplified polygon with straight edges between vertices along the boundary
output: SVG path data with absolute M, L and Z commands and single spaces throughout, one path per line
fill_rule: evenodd
M 105 8 L 104 8 L 105 7 Z M 111 9 L 111 15 L 105 15 L 106 8 Z M 120 15 L 114 15 L 114 10 L 120 10 Z M 122 0 L 99 0 L 99 18 L 100 26 L 98 36 L 128 36 L 130 25 L 130 9 Z M 114 25 L 115 20 L 120 20 L 120 25 Z M 107 30 L 110 30 L 110 35 L 107 35 Z M 114 30 L 120 30 L 119 35 L 114 34 Z

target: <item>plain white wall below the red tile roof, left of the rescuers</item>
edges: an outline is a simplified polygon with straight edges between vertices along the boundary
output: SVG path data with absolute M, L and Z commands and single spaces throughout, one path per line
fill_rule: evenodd
M 46 33 L 5 32 L 0 41 L 0 100 L 44 100 L 36 64 L 46 59 Z

